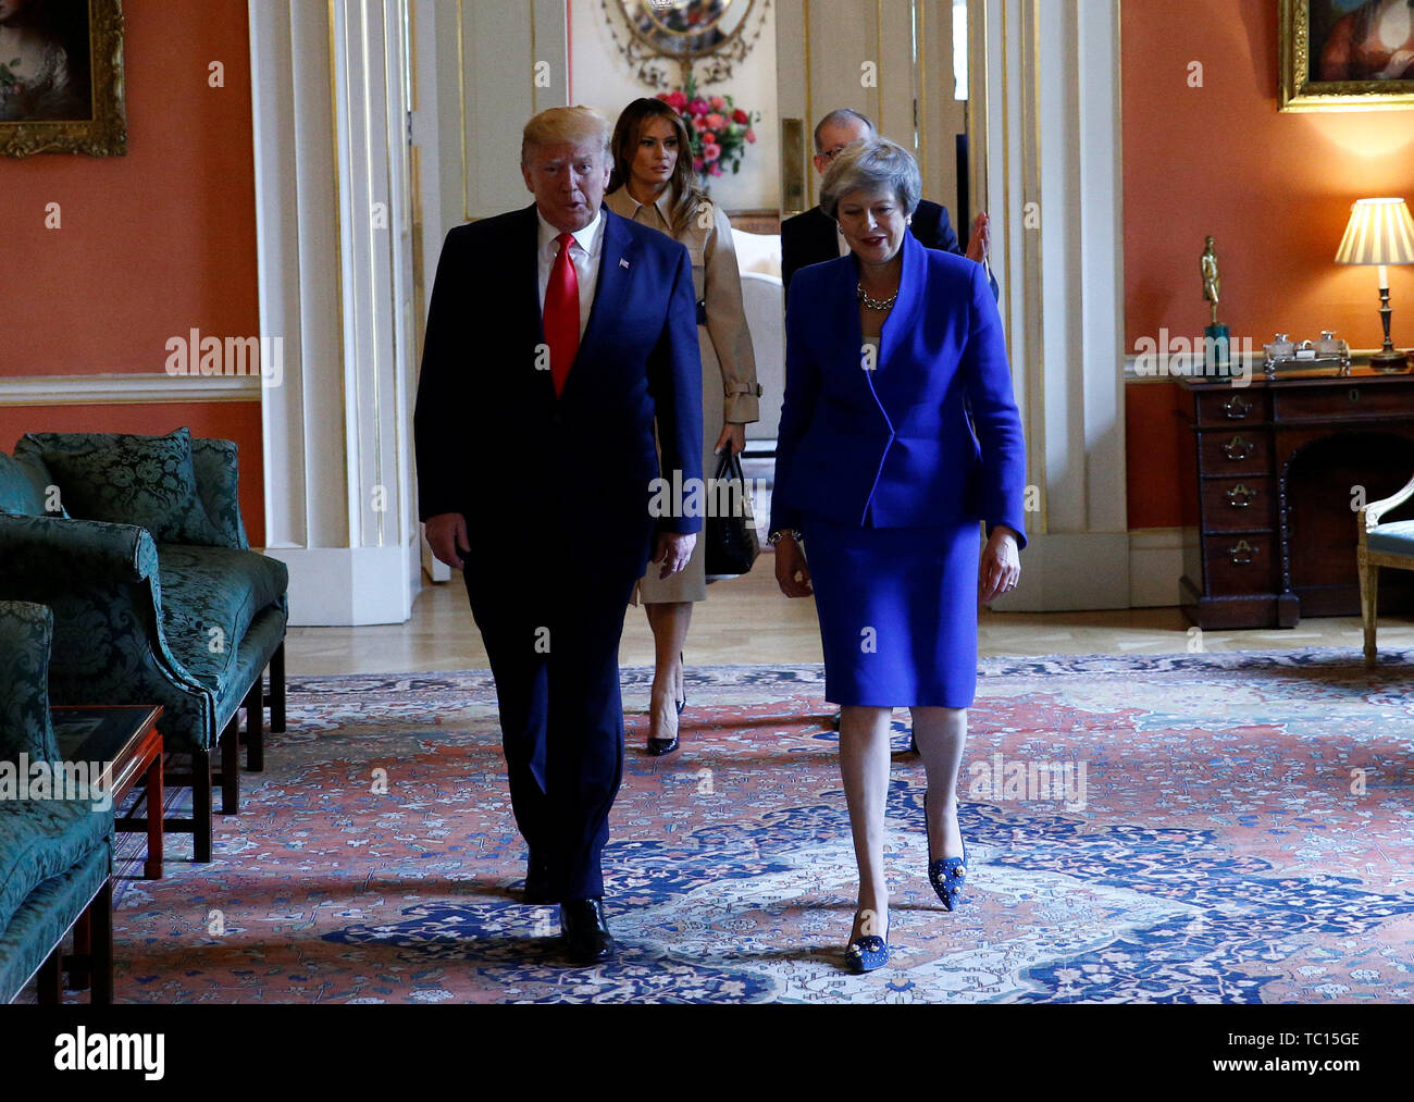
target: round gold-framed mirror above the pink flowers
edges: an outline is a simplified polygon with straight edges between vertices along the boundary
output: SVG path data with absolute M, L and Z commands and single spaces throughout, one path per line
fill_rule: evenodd
M 728 81 L 765 27 L 771 0 L 600 0 L 609 35 L 653 89 Z M 696 76 L 694 76 L 696 71 Z

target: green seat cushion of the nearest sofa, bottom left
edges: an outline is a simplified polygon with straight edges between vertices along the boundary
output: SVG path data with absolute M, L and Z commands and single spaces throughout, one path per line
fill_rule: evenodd
M 107 845 L 113 812 L 78 799 L 0 799 L 0 929 L 49 877 Z

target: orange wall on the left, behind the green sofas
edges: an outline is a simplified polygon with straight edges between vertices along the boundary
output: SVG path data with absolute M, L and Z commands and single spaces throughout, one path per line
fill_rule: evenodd
M 246 0 L 126 0 L 126 157 L 0 160 L 0 375 L 153 373 L 168 338 L 257 335 Z M 225 88 L 208 65 L 225 65 Z M 61 204 L 62 228 L 45 229 Z M 240 443 L 242 508 L 264 542 L 259 403 L 0 409 L 27 430 Z

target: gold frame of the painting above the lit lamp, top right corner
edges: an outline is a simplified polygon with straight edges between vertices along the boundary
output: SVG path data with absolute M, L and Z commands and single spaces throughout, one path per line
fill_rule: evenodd
M 1407 0 L 1367 0 L 1346 11 L 1332 0 L 1281 0 L 1280 68 L 1281 110 L 1398 110 L 1414 108 L 1414 13 Z M 1377 35 L 1376 21 L 1394 20 L 1408 31 L 1407 44 L 1377 54 L 1397 78 L 1379 76 L 1373 69 L 1359 79 L 1322 81 L 1321 62 L 1326 47 L 1350 28 L 1365 38 Z M 1343 27 L 1340 25 L 1343 23 Z M 1340 28 L 1338 31 L 1338 27 Z M 1339 48 L 1339 45 L 1338 45 Z M 1367 55 L 1353 64 L 1370 64 Z

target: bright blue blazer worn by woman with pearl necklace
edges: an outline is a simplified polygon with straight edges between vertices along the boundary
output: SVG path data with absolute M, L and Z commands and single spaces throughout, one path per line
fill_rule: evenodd
M 1025 441 L 987 274 L 912 233 L 902 253 L 872 371 L 854 255 L 792 280 L 771 530 L 863 525 L 872 506 L 875 528 L 983 519 L 1025 546 Z

